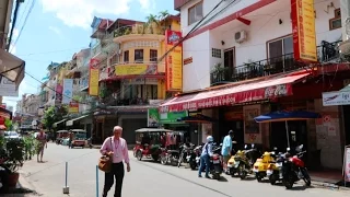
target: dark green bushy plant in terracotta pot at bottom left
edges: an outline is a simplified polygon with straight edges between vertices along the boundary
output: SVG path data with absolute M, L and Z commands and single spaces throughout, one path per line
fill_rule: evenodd
M 4 165 L 10 171 L 9 174 L 9 186 L 15 187 L 19 182 L 19 169 L 23 166 L 24 157 L 23 157 L 23 140 L 5 140 L 5 154 L 7 160 Z

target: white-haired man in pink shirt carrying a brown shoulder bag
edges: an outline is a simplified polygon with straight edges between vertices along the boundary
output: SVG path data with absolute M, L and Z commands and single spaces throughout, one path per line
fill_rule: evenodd
M 127 172 L 130 172 L 130 160 L 127 141 L 121 138 L 122 128 L 115 126 L 113 129 L 113 136 L 105 139 L 101 147 L 101 153 L 103 155 L 109 155 L 112 158 L 112 170 L 110 172 L 105 173 L 105 185 L 103 188 L 103 197 L 107 197 L 108 192 L 110 190 L 114 178 L 116 179 L 115 185 L 115 197 L 121 197 L 121 187 L 124 179 L 124 163 L 127 164 Z

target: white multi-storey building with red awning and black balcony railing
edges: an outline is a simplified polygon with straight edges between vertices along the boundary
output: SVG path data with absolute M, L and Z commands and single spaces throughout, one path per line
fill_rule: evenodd
M 305 32 L 298 26 L 302 22 L 291 1 L 174 0 L 183 35 L 189 34 L 182 43 L 184 93 L 162 104 L 160 111 L 194 111 L 218 119 L 220 124 L 194 128 L 201 131 L 197 132 L 200 139 L 213 135 L 219 141 L 233 129 L 238 143 L 256 143 L 267 150 L 284 150 L 291 139 L 289 146 L 306 144 L 308 164 L 341 169 L 342 147 L 350 143 L 341 138 L 341 109 L 326 107 L 322 100 L 323 92 L 343 86 L 348 71 L 339 65 L 343 59 L 337 50 L 340 5 L 331 0 L 303 3 L 310 8 L 303 13 L 308 18 L 304 25 L 310 27 L 307 37 L 301 38 Z M 305 39 L 310 44 L 302 46 Z M 300 58 L 303 47 L 308 47 L 313 60 Z M 254 120 L 282 109 L 316 112 L 324 120 L 289 121 L 287 131 L 285 123 Z M 325 127 L 331 131 L 319 135 Z

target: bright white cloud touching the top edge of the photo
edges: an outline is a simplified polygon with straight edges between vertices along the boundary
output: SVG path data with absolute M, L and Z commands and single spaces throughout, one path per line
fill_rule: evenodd
M 44 12 L 54 12 L 68 26 L 89 28 L 94 14 L 125 14 L 132 0 L 42 0 Z

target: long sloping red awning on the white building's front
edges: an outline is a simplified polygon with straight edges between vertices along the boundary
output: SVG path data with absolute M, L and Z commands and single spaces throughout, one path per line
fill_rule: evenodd
M 160 112 L 182 112 L 198 108 L 225 106 L 292 95 L 292 83 L 307 77 L 310 72 L 295 72 L 257 82 L 226 86 L 219 90 L 183 95 L 162 104 Z

